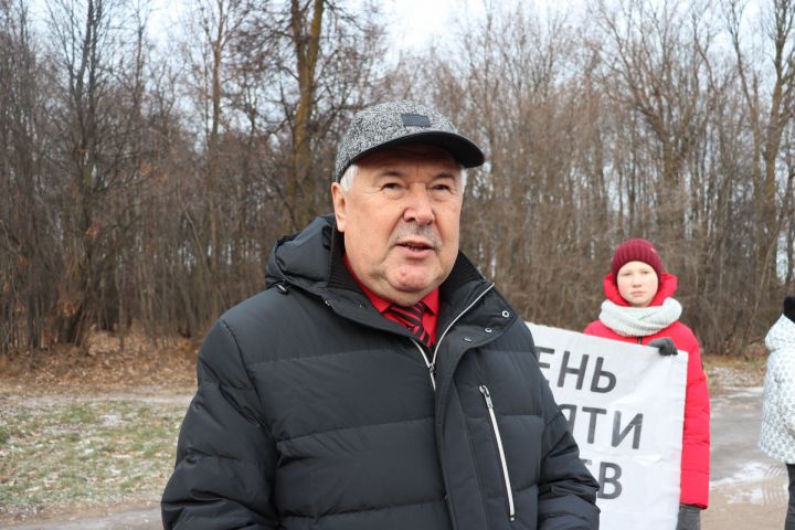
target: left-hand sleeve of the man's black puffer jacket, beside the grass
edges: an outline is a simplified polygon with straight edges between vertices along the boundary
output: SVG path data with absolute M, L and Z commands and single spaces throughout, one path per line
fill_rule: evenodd
M 223 319 L 204 340 L 199 389 L 182 422 L 163 491 L 165 529 L 275 529 L 276 448 L 259 417 L 234 335 Z

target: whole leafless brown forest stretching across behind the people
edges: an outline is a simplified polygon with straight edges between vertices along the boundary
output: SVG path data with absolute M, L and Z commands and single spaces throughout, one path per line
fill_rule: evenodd
M 707 352 L 795 290 L 795 1 L 481 2 L 395 52 L 367 0 L 0 0 L 0 356 L 93 330 L 200 339 L 330 211 L 362 106 L 431 104 L 479 144 L 463 250 L 527 319 L 596 318 L 654 241 Z M 463 6 L 463 4 L 462 4 Z

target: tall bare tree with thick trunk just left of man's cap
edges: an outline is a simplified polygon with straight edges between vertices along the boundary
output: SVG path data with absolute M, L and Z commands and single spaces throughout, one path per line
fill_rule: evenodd
M 247 108 L 271 147 L 268 158 L 261 158 L 266 162 L 261 177 L 284 209 L 283 232 L 299 230 L 329 208 L 333 139 L 344 126 L 338 118 L 360 107 L 378 81 L 383 36 L 378 10 L 364 3 L 354 15 L 341 3 L 266 4 L 252 13 L 240 35 L 245 86 L 262 87 L 256 107 Z

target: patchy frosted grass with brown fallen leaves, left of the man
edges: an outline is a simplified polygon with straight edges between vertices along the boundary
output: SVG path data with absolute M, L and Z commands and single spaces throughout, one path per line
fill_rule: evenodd
M 159 500 L 197 343 L 95 333 L 0 357 L 0 527 Z

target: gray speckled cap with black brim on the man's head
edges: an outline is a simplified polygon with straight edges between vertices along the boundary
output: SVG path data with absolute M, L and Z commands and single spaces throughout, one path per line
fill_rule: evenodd
M 465 168 L 484 163 L 479 147 L 458 134 L 445 116 L 414 102 L 389 102 L 364 108 L 353 116 L 337 149 L 335 180 L 348 166 L 378 149 L 396 144 L 433 144 L 448 151 Z

